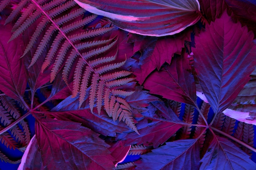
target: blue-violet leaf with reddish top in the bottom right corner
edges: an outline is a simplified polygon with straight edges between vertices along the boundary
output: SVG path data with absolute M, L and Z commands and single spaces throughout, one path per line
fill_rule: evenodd
M 200 170 L 255 170 L 256 167 L 256 163 L 243 150 L 228 139 L 217 136 L 200 162 Z

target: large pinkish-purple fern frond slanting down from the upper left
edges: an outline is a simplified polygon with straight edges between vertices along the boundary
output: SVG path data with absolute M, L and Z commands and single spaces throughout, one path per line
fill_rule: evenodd
M 41 71 L 43 72 L 52 64 L 50 82 L 53 82 L 61 71 L 66 84 L 70 84 L 73 80 L 72 97 L 79 94 L 79 108 L 85 102 L 85 96 L 88 95 L 88 88 L 90 88 L 88 93 L 91 111 L 96 107 L 95 111 L 97 110 L 100 114 L 104 106 L 110 117 L 113 116 L 114 120 L 119 117 L 119 121 L 125 121 L 137 132 L 131 117 L 132 109 L 126 100 L 121 98 L 133 92 L 121 91 L 116 87 L 135 79 L 128 77 L 131 72 L 117 70 L 124 66 L 126 61 L 115 61 L 118 37 L 108 33 L 115 27 L 110 24 L 101 27 L 101 24 L 98 24 L 96 28 L 88 27 L 85 31 L 79 30 L 97 18 L 97 15 L 83 18 L 83 12 L 84 9 L 76 5 L 73 0 L 50 2 L 49 0 L 31 0 L 18 20 L 17 29 L 11 40 L 28 27 L 33 30 L 32 26 L 34 26 L 34 33 L 23 56 L 32 47 L 34 48 L 34 42 L 40 41 L 40 44 L 36 44 L 37 50 L 33 54 L 29 67 L 35 64 L 39 57 L 44 57 L 43 53 L 46 53 Z M 42 29 L 46 31 L 43 32 Z M 42 33 L 43 35 L 40 36 Z M 106 36 L 103 38 L 98 37 L 104 34 Z M 50 46 L 49 49 L 46 48 L 48 46 Z M 114 50 L 116 53 L 108 56 L 110 51 Z

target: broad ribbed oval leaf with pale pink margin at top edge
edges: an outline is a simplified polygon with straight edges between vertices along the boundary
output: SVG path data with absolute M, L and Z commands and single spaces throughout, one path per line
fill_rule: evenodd
M 179 33 L 200 19 L 198 0 L 75 0 L 81 7 L 106 16 L 119 28 L 149 36 Z

